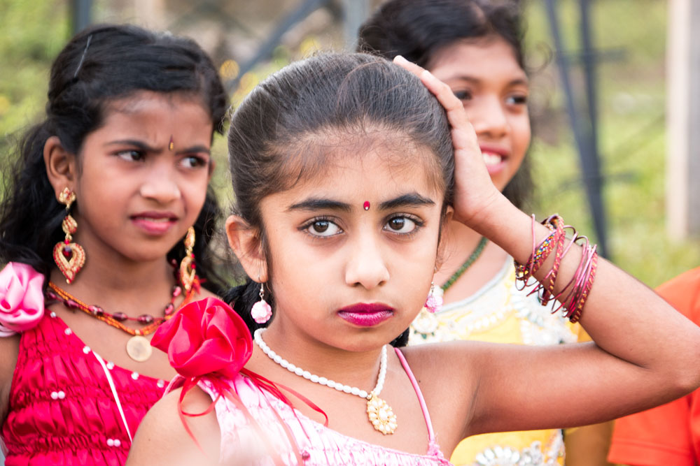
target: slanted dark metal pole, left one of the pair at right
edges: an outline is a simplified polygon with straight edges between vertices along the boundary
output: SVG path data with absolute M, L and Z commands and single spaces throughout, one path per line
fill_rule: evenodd
M 583 170 L 584 185 L 586 187 L 588 203 L 593 217 L 594 229 L 598 238 L 598 253 L 601 254 L 601 256 L 608 257 L 608 241 L 605 233 L 605 210 L 603 209 L 603 199 L 601 196 L 601 174 L 598 158 L 595 151 L 592 149 L 589 137 L 590 134 L 586 134 L 590 133 L 590 131 L 584 131 L 576 112 L 573 88 L 571 87 L 568 75 L 569 61 L 566 55 L 563 54 L 563 42 L 559 32 L 559 22 L 556 17 L 556 11 L 554 10 L 554 0 L 546 0 L 545 6 L 549 19 L 549 27 L 552 29 L 554 48 L 556 49 L 556 64 L 559 68 L 559 79 L 561 79 L 561 85 L 566 98 L 566 111 L 578 148 L 581 168 Z

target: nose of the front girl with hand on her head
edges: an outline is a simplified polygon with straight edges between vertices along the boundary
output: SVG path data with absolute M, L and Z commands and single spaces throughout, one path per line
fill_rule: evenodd
M 371 234 L 363 234 L 358 235 L 349 244 L 350 259 L 345 270 L 346 284 L 371 290 L 387 282 L 389 271 L 381 254 L 379 241 L 379 238 L 372 238 Z

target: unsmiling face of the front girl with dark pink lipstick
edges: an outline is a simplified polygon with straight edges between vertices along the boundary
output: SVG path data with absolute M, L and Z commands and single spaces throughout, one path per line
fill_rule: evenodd
M 377 140 L 330 143 L 323 173 L 262 199 L 276 300 L 269 331 L 361 351 L 393 340 L 421 310 L 442 193 L 426 175 L 427 150 Z

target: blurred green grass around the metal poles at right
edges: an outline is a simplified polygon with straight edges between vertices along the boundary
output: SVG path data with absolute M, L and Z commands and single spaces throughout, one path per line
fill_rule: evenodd
M 566 27 L 567 50 L 577 50 L 577 3 L 557 2 Z M 599 143 L 603 199 L 608 218 L 611 259 L 649 286 L 700 265 L 700 242 L 673 242 L 666 234 L 664 217 L 665 87 L 664 60 L 666 2 L 656 0 L 606 0 L 593 2 L 594 40 L 601 50 L 622 50 L 622 59 L 598 66 Z M 542 1 L 529 3 L 529 50 L 541 50 L 549 42 Z M 541 52 L 531 60 L 542 61 Z M 573 82 L 582 92 L 580 71 Z M 533 97 L 549 104 L 540 115 L 531 150 L 538 185 L 536 211 L 540 216 L 559 212 L 582 233 L 592 233 L 591 215 L 581 182 L 573 134 L 563 108 L 554 64 L 533 76 Z M 544 98 L 538 92 L 550 88 Z M 583 115 L 584 105 L 580 114 Z M 535 118 L 535 124 L 538 124 Z M 554 125 L 552 128 L 550 126 Z M 589 236 L 594 237 L 593 234 Z

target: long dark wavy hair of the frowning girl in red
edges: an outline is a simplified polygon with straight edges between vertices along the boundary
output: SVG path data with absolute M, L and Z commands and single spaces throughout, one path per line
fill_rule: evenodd
M 27 263 L 48 277 L 52 247 L 63 238 L 64 205 L 56 201 L 43 160 L 43 147 L 57 136 L 66 151 L 79 154 L 85 136 L 99 129 L 114 99 L 139 91 L 184 93 L 202 99 L 214 129 L 223 132 L 228 108 L 214 64 L 197 43 L 132 25 L 102 24 L 71 39 L 51 67 L 43 122 L 20 141 L 18 159 L 6 173 L 0 205 L 0 261 Z M 213 135 L 212 135 L 213 136 Z M 214 191 L 207 189 L 195 223 L 197 272 L 212 291 L 224 282 L 211 267 L 208 245 L 220 217 Z M 89 254 L 89 253 L 88 253 Z M 168 259 L 178 260 L 176 245 Z

